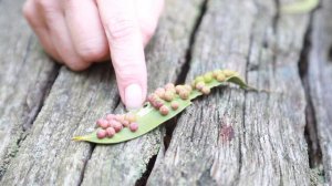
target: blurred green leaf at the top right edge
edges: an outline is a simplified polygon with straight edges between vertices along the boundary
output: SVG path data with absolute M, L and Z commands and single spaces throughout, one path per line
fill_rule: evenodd
M 293 3 L 281 7 L 281 13 L 299 14 L 311 12 L 319 6 L 319 0 L 298 0 Z

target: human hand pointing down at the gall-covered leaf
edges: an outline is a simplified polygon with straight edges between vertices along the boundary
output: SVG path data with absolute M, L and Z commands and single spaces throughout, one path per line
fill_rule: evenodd
M 141 107 L 147 90 L 144 45 L 163 0 L 27 0 L 23 14 L 42 46 L 74 71 L 112 59 L 122 101 Z

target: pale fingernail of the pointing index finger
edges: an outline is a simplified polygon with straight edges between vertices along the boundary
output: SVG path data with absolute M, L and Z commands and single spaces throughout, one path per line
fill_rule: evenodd
M 127 110 L 142 107 L 142 87 L 138 84 L 129 84 L 125 89 L 125 104 Z

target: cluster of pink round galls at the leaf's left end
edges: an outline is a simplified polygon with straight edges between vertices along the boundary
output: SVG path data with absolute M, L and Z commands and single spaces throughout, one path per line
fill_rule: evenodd
M 105 118 L 100 118 L 96 122 L 97 127 L 101 127 L 96 135 L 98 138 L 113 137 L 115 133 L 121 132 L 123 127 L 128 127 L 132 132 L 138 130 L 136 115 L 128 114 L 107 114 Z

